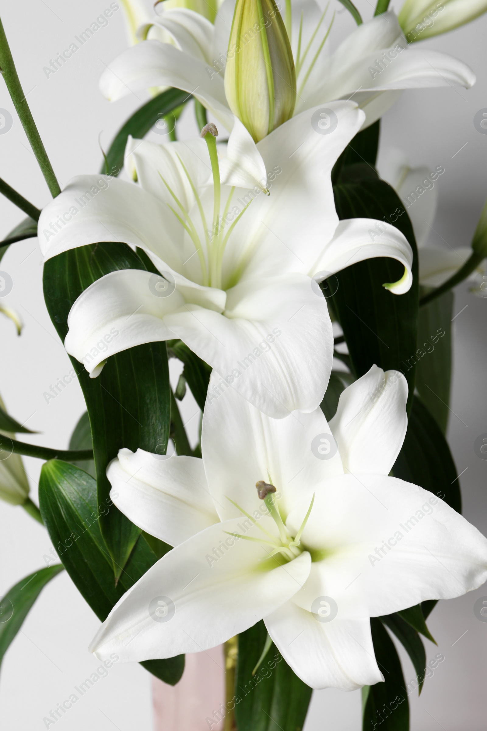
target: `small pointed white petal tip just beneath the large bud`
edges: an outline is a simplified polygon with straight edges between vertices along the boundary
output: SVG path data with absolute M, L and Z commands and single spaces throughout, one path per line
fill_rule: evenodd
M 226 157 L 220 163 L 223 183 L 237 188 L 266 189 L 267 173 L 264 160 L 248 129 L 236 117 L 226 146 Z

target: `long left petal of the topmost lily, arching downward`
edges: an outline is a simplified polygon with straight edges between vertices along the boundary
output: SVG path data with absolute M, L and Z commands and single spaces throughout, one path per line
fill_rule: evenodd
M 101 94 L 112 102 L 151 86 L 175 86 L 194 94 L 223 126 L 233 126 L 234 115 L 226 103 L 223 77 L 204 61 L 169 43 L 142 41 L 115 58 L 100 77 Z

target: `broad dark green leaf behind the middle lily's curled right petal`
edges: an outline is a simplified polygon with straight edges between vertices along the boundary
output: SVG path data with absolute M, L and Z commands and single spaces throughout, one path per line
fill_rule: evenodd
M 406 294 L 393 295 L 383 287 L 385 282 L 403 276 L 402 264 L 394 259 L 377 258 L 358 262 L 337 273 L 339 286 L 331 298 L 356 376 L 363 376 L 374 363 L 384 371 L 402 371 L 409 386 L 410 408 L 415 366 L 408 368 L 407 361 L 416 350 L 418 322 L 418 253 L 413 227 L 396 192 L 384 181 L 339 184 L 334 186 L 334 194 L 340 219 L 386 220 L 402 231 L 413 248 L 413 285 Z M 391 220 L 393 214 L 396 221 Z

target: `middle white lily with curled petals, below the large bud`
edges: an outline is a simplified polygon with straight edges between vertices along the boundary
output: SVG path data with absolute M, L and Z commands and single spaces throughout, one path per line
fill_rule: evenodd
M 313 129 L 313 110 L 258 145 L 237 121 L 221 172 L 211 134 L 165 145 L 129 140 L 139 183 L 86 175 L 47 205 L 39 219 L 46 257 L 123 241 L 145 249 L 161 272 L 112 272 L 74 303 L 65 346 L 92 377 L 121 350 L 181 338 L 222 387 L 263 412 L 316 408 L 333 351 L 316 281 L 384 256 L 404 265 L 391 292 L 407 292 L 412 281 L 412 251 L 399 230 L 338 220 L 331 168 L 364 113 L 351 102 L 332 107 L 329 135 Z

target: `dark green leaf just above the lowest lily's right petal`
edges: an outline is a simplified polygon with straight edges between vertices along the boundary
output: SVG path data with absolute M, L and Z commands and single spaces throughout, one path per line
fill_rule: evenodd
M 402 450 L 392 468 L 394 477 L 413 482 L 461 512 L 459 480 L 450 448 L 440 427 L 417 396 L 407 423 Z

